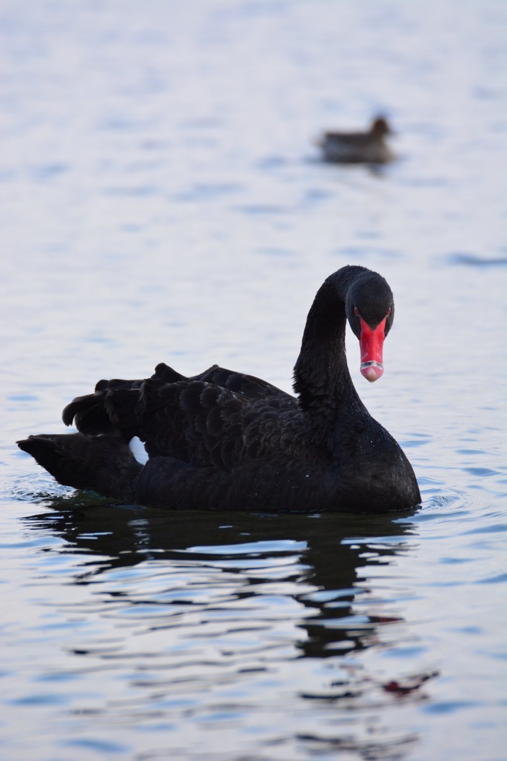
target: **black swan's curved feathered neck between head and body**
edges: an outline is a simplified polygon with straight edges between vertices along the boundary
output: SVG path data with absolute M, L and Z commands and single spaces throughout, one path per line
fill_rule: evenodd
M 353 387 L 345 353 L 345 299 L 349 285 L 349 278 L 339 283 L 328 279 L 319 289 L 294 367 L 293 387 L 299 406 L 308 413 L 313 427 L 321 430 L 329 431 L 346 410 L 364 409 Z

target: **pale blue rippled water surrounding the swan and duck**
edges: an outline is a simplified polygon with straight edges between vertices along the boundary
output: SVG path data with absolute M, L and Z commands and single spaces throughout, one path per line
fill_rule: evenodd
M 4 0 L 2 713 L 30 761 L 503 761 L 505 3 Z M 325 166 L 386 113 L 398 161 Z M 175 514 L 14 441 L 100 377 L 290 389 L 306 312 L 382 272 L 398 517 Z

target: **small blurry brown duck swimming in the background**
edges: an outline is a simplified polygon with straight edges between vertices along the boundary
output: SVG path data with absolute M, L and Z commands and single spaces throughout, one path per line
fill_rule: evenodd
M 337 164 L 386 164 L 395 154 L 385 142 L 393 133 L 387 119 L 377 116 L 367 132 L 324 132 L 317 145 L 324 161 Z

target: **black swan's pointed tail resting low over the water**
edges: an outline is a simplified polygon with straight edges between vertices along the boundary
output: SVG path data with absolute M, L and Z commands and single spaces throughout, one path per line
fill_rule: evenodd
M 132 482 L 142 470 L 128 444 L 116 436 L 43 434 L 17 441 L 17 446 L 64 486 L 105 497 L 132 498 Z

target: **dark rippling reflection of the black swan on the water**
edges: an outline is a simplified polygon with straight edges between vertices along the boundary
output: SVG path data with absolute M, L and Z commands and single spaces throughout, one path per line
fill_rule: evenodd
M 399 516 L 172 512 L 74 498 L 27 524 L 64 540 L 51 551 L 78 559 L 74 583 L 100 584 L 123 613 L 142 603 L 145 626 L 174 626 L 173 613 L 185 626 L 185 606 L 199 608 L 201 623 L 221 609 L 224 630 L 287 616 L 296 655 L 309 658 L 379 641 L 398 619 L 372 599 L 368 569 L 410 551 L 410 522 Z

